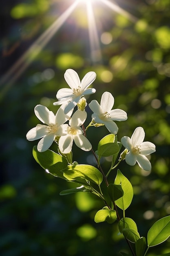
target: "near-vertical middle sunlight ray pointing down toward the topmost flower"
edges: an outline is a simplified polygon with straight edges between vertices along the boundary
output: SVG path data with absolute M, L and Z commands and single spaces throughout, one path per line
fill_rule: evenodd
M 100 49 L 99 37 L 97 34 L 97 27 L 93 7 L 90 1 L 87 4 L 87 17 L 88 17 L 88 33 L 91 45 L 91 58 L 93 63 L 102 61 L 102 53 Z

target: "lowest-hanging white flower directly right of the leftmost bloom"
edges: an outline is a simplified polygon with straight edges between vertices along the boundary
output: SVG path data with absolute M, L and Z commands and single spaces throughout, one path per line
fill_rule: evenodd
M 82 134 L 83 130 L 80 128 L 87 118 L 86 111 L 77 110 L 69 120 L 68 134 L 61 136 L 58 142 L 59 149 L 62 153 L 67 154 L 71 152 L 73 140 L 77 147 L 84 151 L 90 151 L 92 146 L 88 139 Z

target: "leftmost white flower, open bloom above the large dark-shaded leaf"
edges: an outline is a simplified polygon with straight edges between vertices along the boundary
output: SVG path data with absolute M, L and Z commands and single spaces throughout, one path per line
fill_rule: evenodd
M 34 108 L 36 117 L 43 124 L 38 124 L 36 127 L 32 128 L 27 132 L 26 139 L 29 141 L 34 141 L 36 139 L 41 139 L 38 142 L 37 149 L 39 152 L 46 151 L 56 136 L 62 136 L 66 134 L 68 124 L 64 124 L 71 116 L 72 112 L 67 115 L 64 114 L 64 106 L 61 106 L 56 115 L 48 108 L 42 105 L 37 105 Z

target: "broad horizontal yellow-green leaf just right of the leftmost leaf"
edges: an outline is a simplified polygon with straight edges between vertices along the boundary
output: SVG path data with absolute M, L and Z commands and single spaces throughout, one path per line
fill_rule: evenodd
M 101 184 L 103 181 L 102 173 L 94 166 L 88 164 L 68 165 L 62 171 L 67 180 L 82 182 L 82 179 L 84 179 L 97 185 Z

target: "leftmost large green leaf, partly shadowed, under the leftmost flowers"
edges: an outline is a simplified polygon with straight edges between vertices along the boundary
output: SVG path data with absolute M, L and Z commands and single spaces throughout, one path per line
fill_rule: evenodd
M 45 152 L 38 152 L 37 146 L 33 147 L 33 157 L 51 175 L 66 180 L 62 170 L 66 168 L 68 163 L 64 157 L 49 149 Z

